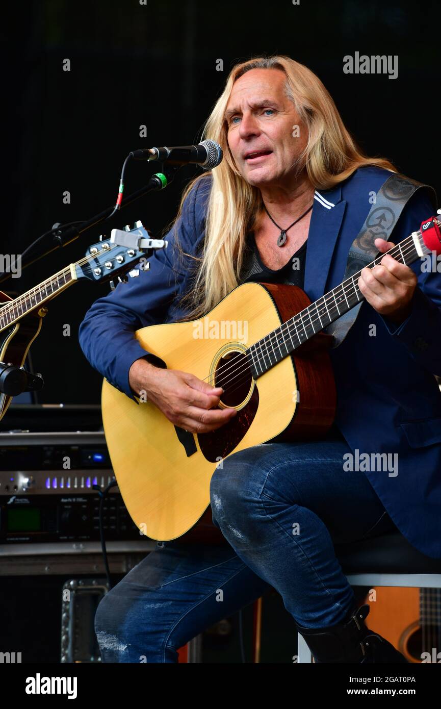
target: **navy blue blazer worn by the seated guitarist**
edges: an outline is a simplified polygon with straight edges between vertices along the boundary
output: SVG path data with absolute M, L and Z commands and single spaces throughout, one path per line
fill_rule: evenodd
M 362 167 L 332 189 L 316 191 L 305 271 L 311 301 L 342 281 L 350 245 L 371 207 L 369 196 L 390 174 Z M 203 243 L 210 189 L 208 174 L 184 203 L 178 234 L 190 254 L 198 254 Z M 428 191 L 418 190 L 403 209 L 391 240 L 397 243 L 418 230 L 434 211 Z M 91 365 L 130 398 L 130 365 L 146 354 L 134 330 L 186 314 L 179 303 L 189 286 L 191 261 L 177 262 L 172 232 L 165 238 L 169 247 L 152 256 L 150 269 L 99 298 L 79 328 L 79 342 Z M 396 327 L 364 302 L 345 340 L 331 351 L 335 423 L 360 470 L 362 454 L 370 461 L 371 454 L 391 455 L 388 469 L 377 462 L 364 472 L 408 541 L 423 554 L 441 558 L 441 392 L 434 376 L 441 375 L 441 274 L 422 272 L 419 260 L 412 268 L 418 287 L 407 320 Z

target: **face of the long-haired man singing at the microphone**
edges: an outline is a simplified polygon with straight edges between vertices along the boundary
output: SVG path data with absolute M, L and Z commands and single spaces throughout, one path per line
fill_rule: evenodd
M 235 163 L 252 185 L 289 182 L 308 136 L 294 104 L 285 95 L 280 69 L 250 69 L 233 85 L 225 111 L 228 145 Z M 300 136 L 293 137 L 294 126 Z M 259 152 L 256 157 L 247 157 Z

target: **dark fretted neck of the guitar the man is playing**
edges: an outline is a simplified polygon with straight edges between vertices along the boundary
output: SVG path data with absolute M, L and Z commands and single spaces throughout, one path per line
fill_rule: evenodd
M 430 250 L 425 246 L 423 235 L 418 230 L 403 239 L 388 253 L 400 263 L 408 266 L 418 258 L 430 254 Z M 384 254 L 379 255 L 367 267 L 373 268 L 379 264 L 383 257 Z M 364 300 L 357 284 L 360 274 L 361 270 L 342 281 L 339 286 L 318 298 L 315 303 L 311 303 L 293 318 L 286 320 L 286 323 L 280 325 L 272 333 L 265 335 L 254 345 L 248 347 L 246 354 L 253 378 L 257 379 L 262 376 L 268 369 L 288 357 L 303 342 L 310 340 L 320 330 L 333 323 L 334 320 L 338 320 L 340 316 Z

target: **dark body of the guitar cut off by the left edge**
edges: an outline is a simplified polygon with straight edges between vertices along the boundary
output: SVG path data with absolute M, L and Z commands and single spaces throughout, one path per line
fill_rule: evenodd
M 0 309 L 2 305 L 11 301 L 12 298 L 0 291 Z M 41 314 L 39 314 L 41 313 Z M 0 362 L 15 364 L 22 367 L 30 345 L 40 332 L 43 316 L 46 314 L 45 308 L 39 311 L 32 311 L 27 316 L 18 320 L 0 333 Z M 0 420 L 4 417 L 12 396 L 0 391 Z

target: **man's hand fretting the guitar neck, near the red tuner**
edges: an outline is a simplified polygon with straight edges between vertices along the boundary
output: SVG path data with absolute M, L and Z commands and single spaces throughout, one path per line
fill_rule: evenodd
M 376 239 L 374 243 L 381 253 L 395 246 L 384 239 Z M 359 289 L 372 308 L 397 325 L 411 313 L 411 301 L 417 284 L 418 279 L 412 269 L 389 254 L 372 269 L 365 267 L 358 279 Z

